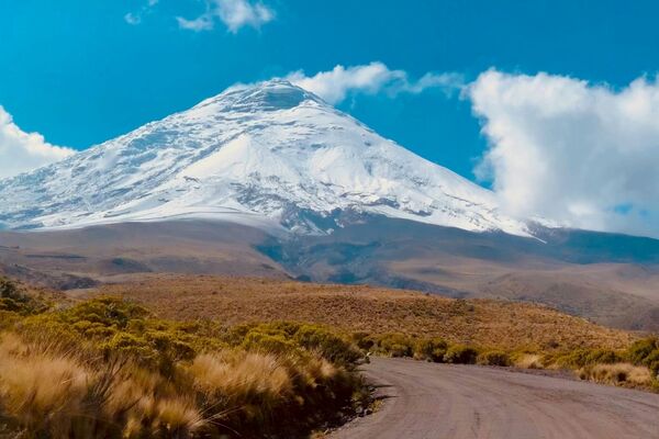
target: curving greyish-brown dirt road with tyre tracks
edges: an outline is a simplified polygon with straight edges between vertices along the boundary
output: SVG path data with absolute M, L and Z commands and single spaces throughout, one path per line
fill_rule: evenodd
M 372 359 L 388 396 L 332 439 L 659 438 L 659 395 L 502 369 Z

